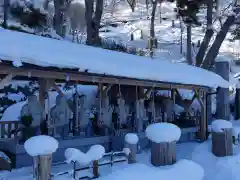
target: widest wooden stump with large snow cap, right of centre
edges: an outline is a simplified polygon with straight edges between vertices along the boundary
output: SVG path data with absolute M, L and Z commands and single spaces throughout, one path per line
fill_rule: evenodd
M 146 136 L 152 142 L 151 163 L 153 166 L 172 165 L 176 162 L 176 142 L 181 129 L 171 123 L 155 123 L 146 129 Z

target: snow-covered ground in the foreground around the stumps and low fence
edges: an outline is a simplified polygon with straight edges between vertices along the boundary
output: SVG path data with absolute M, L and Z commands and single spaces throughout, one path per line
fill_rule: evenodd
M 166 180 L 172 180 L 171 178 L 181 179 L 181 176 L 191 177 L 199 173 L 194 166 L 184 166 L 184 159 L 192 160 L 199 164 L 204 169 L 204 178 L 202 180 L 239 180 L 239 153 L 240 145 L 234 147 L 234 156 L 217 158 L 211 153 L 211 142 L 207 141 L 203 144 L 199 143 L 181 143 L 177 144 L 177 161 L 179 165 L 183 163 L 180 169 L 176 168 L 171 170 L 171 166 L 166 167 L 153 167 L 150 164 L 150 152 L 144 151 L 137 155 L 137 164 L 129 165 L 125 162 L 114 164 L 112 167 L 102 166 L 100 167 L 100 179 L 104 180 L 120 180 L 120 177 L 124 177 L 124 180 L 136 179 L 141 177 L 141 180 L 145 180 L 151 177 L 153 180 L 165 178 Z M 183 162 L 182 162 L 183 161 Z M 195 164 L 194 164 L 195 165 Z M 140 170 L 142 169 L 142 170 Z M 170 169 L 170 170 L 169 170 Z M 53 166 L 52 173 L 57 175 L 62 172 L 69 172 L 70 174 L 59 175 L 53 177 L 53 180 L 73 180 L 72 165 L 59 165 Z M 151 174 L 148 171 L 150 171 Z M 157 172 L 158 173 L 157 173 Z M 165 172 L 166 171 L 166 172 Z M 169 171 L 169 172 L 168 172 Z M 145 173 L 141 173 L 145 172 Z M 92 169 L 78 172 L 78 176 L 92 175 Z M 120 175 L 118 177 L 117 175 Z M 2 178 L 2 179 L 1 179 Z M 145 179 L 144 179 L 145 178 Z M 1 180 L 31 180 L 32 179 L 32 167 L 21 168 L 13 170 L 12 172 L 0 172 Z M 197 178 L 195 178 L 197 179 Z M 193 180 L 195 180 L 193 179 Z M 182 180 L 182 179 L 181 179 Z M 192 179 L 191 179 L 192 180 Z M 201 179 L 198 179 L 201 180 Z

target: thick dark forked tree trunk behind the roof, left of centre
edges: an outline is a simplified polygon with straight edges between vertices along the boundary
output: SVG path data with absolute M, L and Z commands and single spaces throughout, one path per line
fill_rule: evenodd
M 103 0 L 85 0 L 85 18 L 87 25 L 87 44 L 99 45 L 101 43 L 99 37 L 99 28 L 103 13 Z

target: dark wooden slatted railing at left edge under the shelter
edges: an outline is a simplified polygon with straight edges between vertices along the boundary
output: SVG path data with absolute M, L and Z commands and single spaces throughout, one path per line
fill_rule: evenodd
M 0 121 L 0 139 L 14 138 L 18 133 L 14 130 L 18 129 L 19 121 Z

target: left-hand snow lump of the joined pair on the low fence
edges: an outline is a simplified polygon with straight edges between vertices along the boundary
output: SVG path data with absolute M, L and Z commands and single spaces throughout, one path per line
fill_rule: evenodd
M 64 155 L 67 163 L 78 162 L 80 165 L 85 166 L 91 162 L 91 159 L 85 153 L 76 148 L 66 149 Z

